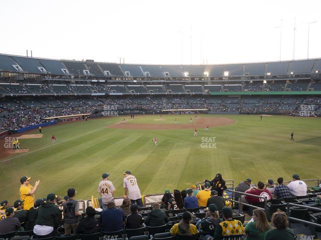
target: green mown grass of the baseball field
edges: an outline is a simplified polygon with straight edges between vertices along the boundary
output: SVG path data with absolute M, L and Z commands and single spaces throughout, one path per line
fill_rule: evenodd
M 131 123 L 188 123 L 193 115 L 139 116 Z M 212 179 L 218 172 L 235 182 L 250 177 L 266 181 L 293 173 L 301 179 L 321 176 L 321 118 L 259 115 L 201 115 L 228 117 L 231 125 L 184 130 L 128 130 L 106 128 L 123 116 L 90 119 L 43 128 L 42 138 L 21 139 L 28 153 L 2 159 L 1 198 L 19 198 L 19 179 L 28 175 L 31 183 L 40 180 L 36 198 L 49 192 L 66 195 L 69 187 L 77 190 L 77 199 L 98 196 L 97 186 L 103 172 L 123 195 L 122 173 L 131 170 L 141 193 L 159 193 L 165 189 L 188 188 L 192 183 Z M 127 117 L 128 118 L 128 117 Z M 295 141 L 290 141 L 290 132 Z M 35 130 L 31 133 L 39 133 Z M 28 133 L 30 134 L 30 133 Z M 52 144 L 55 134 L 57 143 Z M 157 136 L 155 147 L 151 139 Z M 216 137 L 217 148 L 202 148 L 202 137 Z M 204 139 L 204 138 L 203 138 Z M 5 160 L 5 161 L 4 161 Z

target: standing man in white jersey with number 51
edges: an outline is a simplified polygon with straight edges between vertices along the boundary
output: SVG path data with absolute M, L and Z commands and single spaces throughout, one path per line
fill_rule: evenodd
M 125 194 L 124 197 L 127 197 L 127 193 L 128 193 L 128 197 L 130 199 L 131 204 L 135 204 L 137 203 L 137 205 L 139 206 L 143 206 L 142 205 L 142 200 L 141 200 L 141 194 L 140 194 L 140 190 L 137 184 L 137 180 L 136 177 L 131 175 L 131 171 L 125 171 L 125 173 L 123 173 L 125 175 L 124 177 L 124 189 L 125 189 Z

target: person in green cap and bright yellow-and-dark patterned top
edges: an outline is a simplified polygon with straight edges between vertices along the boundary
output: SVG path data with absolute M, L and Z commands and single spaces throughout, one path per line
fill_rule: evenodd
M 227 239 L 231 235 L 242 235 L 244 233 L 244 226 L 241 221 L 233 220 L 233 212 L 229 207 L 222 209 L 224 221 L 220 222 L 215 230 L 214 240 Z

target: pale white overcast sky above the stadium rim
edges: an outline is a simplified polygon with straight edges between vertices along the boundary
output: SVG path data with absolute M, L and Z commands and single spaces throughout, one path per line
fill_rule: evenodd
M 321 57 L 320 0 L 1 0 L 0 53 L 152 64 Z M 316 21 L 316 22 L 314 22 Z M 310 24 L 309 24 L 310 22 Z M 314 23 L 311 23 L 314 22 Z

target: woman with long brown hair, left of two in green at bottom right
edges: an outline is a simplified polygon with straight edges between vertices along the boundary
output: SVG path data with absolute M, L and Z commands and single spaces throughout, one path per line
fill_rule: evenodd
M 253 210 L 253 221 L 249 222 L 245 227 L 246 240 L 264 240 L 267 230 L 271 226 L 266 218 L 265 212 L 262 209 Z

